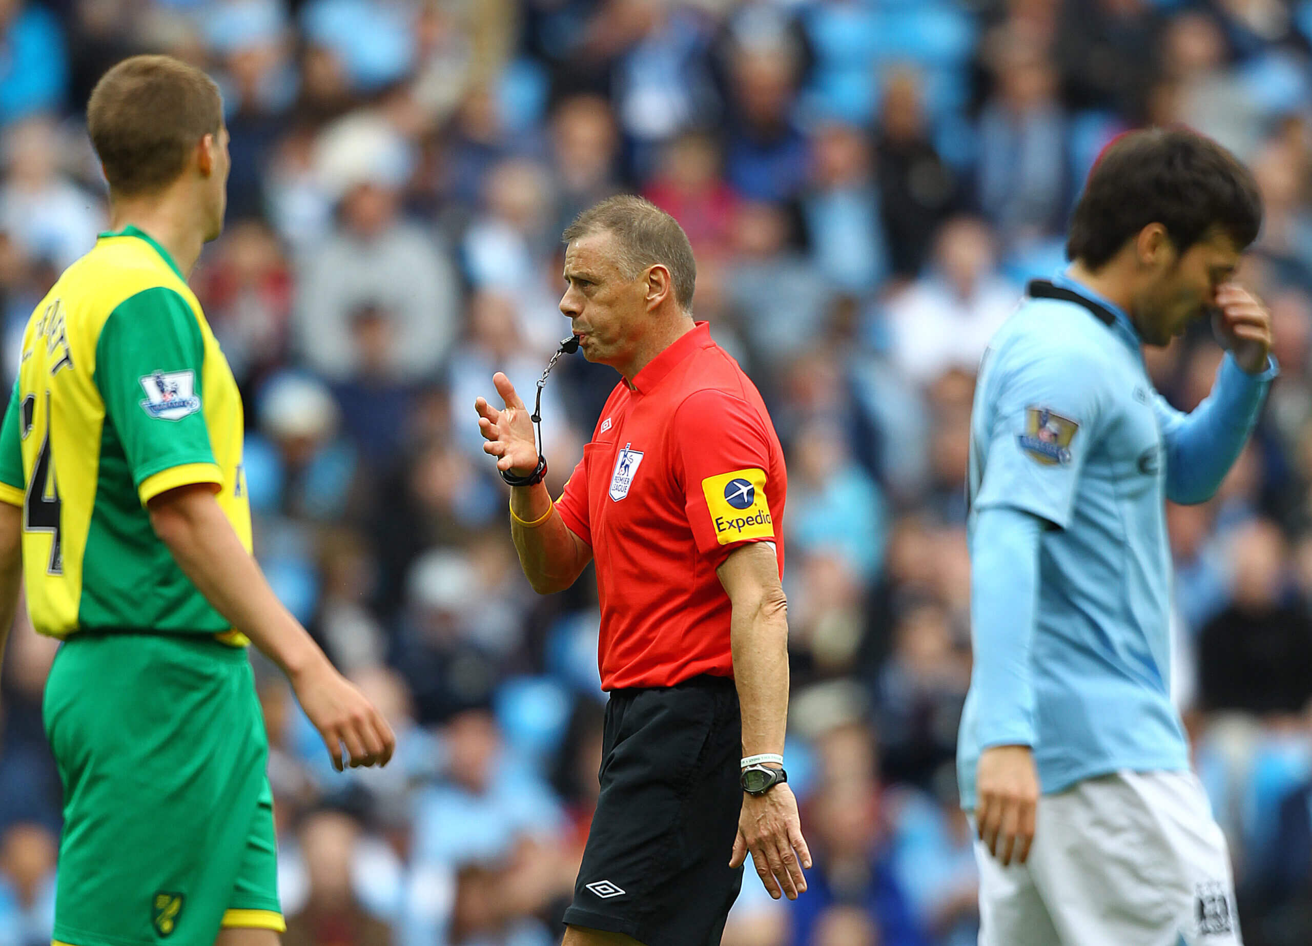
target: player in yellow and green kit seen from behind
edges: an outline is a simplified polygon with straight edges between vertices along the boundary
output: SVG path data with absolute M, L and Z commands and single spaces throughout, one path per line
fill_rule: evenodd
M 395 737 L 251 556 L 241 399 L 186 285 L 223 228 L 218 88 L 135 56 L 87 118 L 113 228 L 33 312 L 0 426 L 0 648 L 20 576 L 33 626 L 66 642 L 45 699 L 64 783 L 55 943 L 276 946 L 245 644 L 287 674 L 338 770 L 386 764 Z

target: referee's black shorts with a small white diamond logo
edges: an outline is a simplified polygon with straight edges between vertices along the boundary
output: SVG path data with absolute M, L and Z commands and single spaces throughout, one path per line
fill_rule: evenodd
M 647 946 L 718 946 L 743 886 L 729 869 L 741 752 L 732 680 L 611 693 L 601 796 L 564 921 Z

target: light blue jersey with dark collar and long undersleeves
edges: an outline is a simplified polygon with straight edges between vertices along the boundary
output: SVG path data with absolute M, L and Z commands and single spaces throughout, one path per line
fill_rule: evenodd
M 1072 293 L 1085 303 L 1034 298 Z M 984 356 L 971 417 L 963 807 L 975 807 L 991 745 L 1031 745 L 1044 794 L 1122 769 L 1187 769 L 1169 695 L 1165 500 L 1211 497 L 1274 374 L 1249 375 L 1227 354 L 1212 395 L 1183 415 L 1153 390 L 1124 312 L 1064 276 L 1031 283 Z M 1015 524 L 1038 534 L 1029 576 L 988 554 Z

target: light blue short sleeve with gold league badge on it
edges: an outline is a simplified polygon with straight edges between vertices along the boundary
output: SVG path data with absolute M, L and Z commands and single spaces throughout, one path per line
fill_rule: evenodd
M 985 420 L 974 506 L 1010 506 L 1065 529 L 1098 425 L 1098 366 L 1078 350 L 1033 350 L 1005 374 Z

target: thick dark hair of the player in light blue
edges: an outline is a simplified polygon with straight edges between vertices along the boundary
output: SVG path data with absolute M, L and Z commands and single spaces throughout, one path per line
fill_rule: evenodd
M 1262 226 L 1262 197 L 1253 173 L 1211 138 L 1131 131 L 1094 164 L 1071 216 L 1067 258 L 1101 269 L 1149 223 L 1162 224 L 1181 253 L 1214 227 L 1244 249 Z

